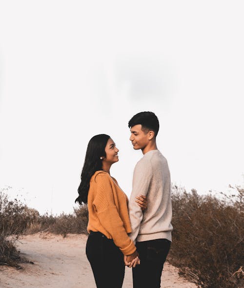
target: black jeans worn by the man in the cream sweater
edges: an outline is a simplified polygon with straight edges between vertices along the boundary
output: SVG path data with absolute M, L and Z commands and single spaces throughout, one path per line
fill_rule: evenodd
M 133 288 L 160 288 L 163 264 L 170 249 L 167 239 L 137 242 L 141 264 L 133 268 Z

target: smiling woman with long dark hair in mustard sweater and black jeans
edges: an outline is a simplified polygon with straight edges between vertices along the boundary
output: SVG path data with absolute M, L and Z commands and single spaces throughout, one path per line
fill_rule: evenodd
M 111 165 L 119 161 L 118 152 L 108 135 L 92 137 L 76 199 L 80 204 L 88 204 L 86 256 L 97 288 L 122 287 L 124 259 L 129 267 L 140 264 L 136 247 L 128 236 L 131 232 L 128 198 L 109 171 Z M 146 206 L 143 197 L 137 197 L 136 202 L 142 209 Z

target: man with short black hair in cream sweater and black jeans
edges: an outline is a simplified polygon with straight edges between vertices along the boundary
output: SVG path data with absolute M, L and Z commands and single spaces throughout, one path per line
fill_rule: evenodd
M 140 112 L 128 123 L 130 141 L 143 157 L 134 169 L 129 216 L 130 238 L 136 242 L 141 264 L 133 268 L 133 288 L 159 288 L 163 264 L 171 244 L 172 206 L 167 160 L 157 148 L 159 121 L 153 112 Z M 146 196 L 144 212 L 135 202 Z

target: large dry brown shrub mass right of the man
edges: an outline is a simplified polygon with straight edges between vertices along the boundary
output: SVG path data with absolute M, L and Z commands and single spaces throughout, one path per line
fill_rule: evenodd
M 243 195 L 220 201 L 196 190 L 172 194 L 174 230 L 169 262 L 202 288 L 243 287 Z M 229 200 L 229 199 L 227 199 Z

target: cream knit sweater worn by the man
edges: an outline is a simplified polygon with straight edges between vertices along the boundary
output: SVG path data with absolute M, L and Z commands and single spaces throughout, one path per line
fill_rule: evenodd
M 132 241 L 154 239 L 172 241 L 172 206 L 170 195 L 170 172 L 167 160 L 159 150 L 150 150 L 137 163 L 129 201 L 129 217 Z M 135 202 L 139 194 L 147 197 L 148 206 L 142 212 Z

